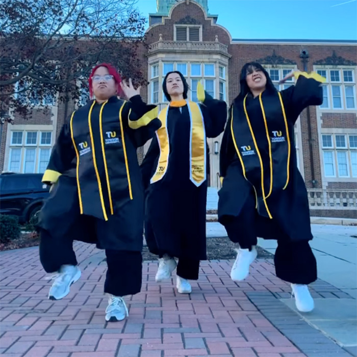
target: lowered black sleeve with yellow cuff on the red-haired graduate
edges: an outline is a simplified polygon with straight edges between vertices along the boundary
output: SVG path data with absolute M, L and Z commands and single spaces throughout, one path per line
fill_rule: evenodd
M 42 182 L 50 185 L 57 182 L 58 177 L 70 169 L 75 158 L 75 151 L 70 134 L 70 117 L 62 126 L 60 135 L 52 149 L 47 169 L 43 174 Z

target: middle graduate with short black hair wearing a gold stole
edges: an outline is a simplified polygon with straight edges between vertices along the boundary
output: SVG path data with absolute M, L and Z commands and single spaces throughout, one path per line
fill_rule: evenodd
M 207 138 L 224 130 L 227 106 L 201 85 L 202 104 L 187 99 L 188 84 L 181 72 L 167 73 L 163 82 L 169 105 L 159 119 L 161 128 L 141 165 L 145 200 L 145 237 L 159 256 L 156 281 L 170 278 L 177 264 L 176 288 L 190 293 L 188 279 L 198 279 L 206 257 Z

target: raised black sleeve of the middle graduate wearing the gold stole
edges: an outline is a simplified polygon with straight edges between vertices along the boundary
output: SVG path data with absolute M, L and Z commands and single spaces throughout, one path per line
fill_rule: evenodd
M 205 91 L 203 104 L 199 104 L 203 119 L 205 120 L 206 136 L 215 138 L 224 130 L 224 124 L 227 120 L 227 104 L 224 100 L 213 99 Z

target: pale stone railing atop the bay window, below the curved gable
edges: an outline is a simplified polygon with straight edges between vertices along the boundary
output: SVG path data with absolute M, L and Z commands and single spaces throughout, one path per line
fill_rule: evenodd
M 149 53 L 165 50 L 188 50 L 202 52 L 221 52 L 228 56 L 228 46 L 220 42 L 158 41 L 149 45 Z

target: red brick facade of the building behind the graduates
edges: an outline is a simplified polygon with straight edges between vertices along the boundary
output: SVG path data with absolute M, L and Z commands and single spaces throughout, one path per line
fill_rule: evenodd
M 276 41 L 276 40 L 232 40 L 228 29 L 222 28 L 215 24 L 214 18 L 209 17 L 201 6 L 193 1 L 185 0 L 176 4 L 167 17 L 163 17 L 162 23 L 151 25 L 146 32 L 146 43 L 141 44 L 138 48 L 138 58 L 142 61 L 141 72 L 143 79 L 148 79 L 148 47 L 159 41 L 160 36 L 163 41 L 174 41 L 174 25 L 175 24 L 194 24 L 200 25 L 202 32 L 202 42 L 219 42 L 227 46 L 228 65 L 226 70 L 228 88 L 226 91 L 226 101 L 228 104 L 239 93 L 239 75 L 242 66 L 246 62 L 258 61 L 263 65 L 279 67 L 289 64 L 290 67 L 297 67 L 304 70 L 303 58 L 301 51 L 308 53 L 307 66 L 308 71 L 312 71 L 316 66 L 323 68 L 335 68 L 339 65 L 346 65 L 354 71 L 354 79 L 357 78 L 356 72 L 356 43 L 351 42 L 336 42 L 329 41 Z M 219 20 L 218 20 L 219 22 Z M 180 53 L 180 49 L 172 49 L 174 53 Z M 193 54 L 197 54 L 192 50 Z M 161 60 L 165 60 L 165 52 L 160 53 Z M 203 53 L 202 53 L 203 54 Z M 205 53 L 207 58 L 210 58 L 209 53 Z M 161 86 L 161 84 L 159 84 Z M 354 81 L 355 86 L 355 81 Z M 148 88 L 142 87 L 142 97 L 145 101 L 150 102 L 151 96 L 148 93 Z M 60 103 L 57 108 L 57 120 L 54 121 L 48 113 L 43 110 L 34 112 L 31 124 L 51 124 L 56 122 L 54 131 L 58 135 L 64 119 L 73 110 L 74 104 Z M 15 117 L 15 123 L 24 123 L 24 120 Z M 30 121 L 28 122 L 30 124 Z M 323 163 L 321 162 L 321 129 L 357 129 L 356 112 L 340 113 L 330 110 L 319 112 L 318 108 L 310 107 L 304 110 L 300 115 L 300 131 L 302 147 L 299 152 L 303 157 L 303 173 L 304 180 L 308 188 L 322 188 L 323 182 L 326 179 L 323 177 Z M 10 128 L 11 130 L 11 128 Z M 6 133 L 8 124 L 3 126 L 2 144 L 0 147 L 0 168 L 4 165 L 4 155 L 6 145 Z M 138 150 L 138 158 L 141 161 L 144 155 L 144 150 Z M 216 155 L 218 160 L 218 155 Z M 215 172 L 211 172 L 212 177 L 216 177 Z M 216 180 L 216 178 L 215 178 Z M 348 180 L 347 180 L 348 181 Z M 353 182 L 354 181 L 354 182 Z M 357 189 L 355 179 L 346 182 L 328 182 L 327 188 L 331 189 Z M 212 184 L 212 183 L 211 183 Z M 212 186 L 215 186 L 212 185 Z M 321 212 L 321 211 L 320 211 Z M 346 211 L 339 211 L 344 214 Z M 315 213 L 314 213 L 315 214 Z

